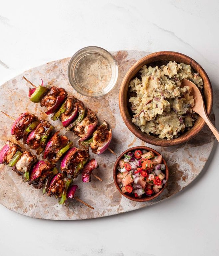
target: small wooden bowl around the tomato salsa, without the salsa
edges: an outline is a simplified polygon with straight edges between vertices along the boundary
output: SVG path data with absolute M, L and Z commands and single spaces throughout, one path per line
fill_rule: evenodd
M 135 197 L 132 197 L 132 196 L 129 196 L 129 195 L 126 195 L 126 194 L 123 194 L 121 192 L 121 189 L 119 188 L 119 185 L 117 183 L 117 166 L 118 166 L 118 162 L 121 158 L 124 158 L 124 154 L 130 152 L 130 151 L 134 151 L 134 150 L 147 150 L 147 151 L 152 151 L 154 153 L 154 155 L 156 156 L 159 156 L 160 153 L 157 152 L 156 150 L 152 149 L 152 148 L 149 148 L 149 147 L 144 147 L 144 146 L 139 146 L 139 147 L 132 147 L 132 148 L 129 148 L 127 150 L 125 150 L 123 153 L 121 153 L 121 155 L 117 158 L 116 162 L 115 162 L 115 165 L 114 165 L 114 168 L 113 168 L 113 179 L 114 179 L 114 183 L 115 183 L 115 186 L 116 188 L 118 189 L 118 191 L 123 195 L 125 196 L 126 198 L 132 200 L 132 201 L 137 201 L 137 202 L 145 202 L 145 201 L 149 201 L 149 200 L 152 200 L 156 197 L 158 197 L 164 190 L 164 188 L 166 187 L 166 184 L 168 182 L 168 178 L 169 178 L 169 169 L 168 169 L 168 166 L 166 164 L 166 161 L 163 159 L 163 164 L 165 164 L 165 167 L 166 167 L 166 170 L 165 170 L 165 180 L 166 180 L 166 183 L 164 184 L 164 186 L 160 189 L 160 191 L 158 193 L 155 193 L 154 195 L 152 196 L 147 196 L 145 194 L 142 195 L 141 198 L 135 198 Z

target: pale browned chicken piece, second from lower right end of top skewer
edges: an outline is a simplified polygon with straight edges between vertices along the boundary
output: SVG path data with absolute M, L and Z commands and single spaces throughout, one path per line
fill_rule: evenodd
M 86 116 L 72 130 L 81 138 L 80 140 L 86 140 L 93 134 L 97 125 L 98 120 L 96 114 L 88 108 Z

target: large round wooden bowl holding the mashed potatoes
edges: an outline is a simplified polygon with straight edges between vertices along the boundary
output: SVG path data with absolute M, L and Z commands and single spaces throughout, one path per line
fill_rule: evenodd
M 200 116 L 198 116 L 193 127 L 189 131 L 186 131 L 185 133 L 179 135 L 179 137 L 176 139 L 167 140 L 159 139 L 157 136 L 147 135 L 146 133 L 142 132 L 134 123 L 132 123 L 132 113 L 128 107 L 128 84 L 130 80 L 134 79 L 137 76 L 139 70 L 144 65 L 152 67 L 157 65 L 159 67 L 161 65 L 167 64 L 169 61 L 176 61 L 177 63 L 188 64 L 195 72 L 200 74 L 204 82 L 203 93 L 207 114 L 209 115 L 212 110 L 213 92 L 211 82 L 204 69 L 195 60 L 182 53 L 171 51 L 155 52 L 138 60 L 128 70 L 121 83 L 119 91 L 119 109 L 122 119 L 128 129 L 140 140 L 156 146 L 173 146 L 182 144 L 197 135 L 197 133 L 200 132 L 205 125 L 205 121 Z

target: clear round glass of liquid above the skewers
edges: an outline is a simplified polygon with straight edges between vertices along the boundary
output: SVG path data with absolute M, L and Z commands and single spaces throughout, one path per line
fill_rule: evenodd
M 87 97 L 107 94 L 118 78 L 118 66 L 112 55 L 97 46 L 88 46 L 77 51 L 68 66 L 72 87 Z

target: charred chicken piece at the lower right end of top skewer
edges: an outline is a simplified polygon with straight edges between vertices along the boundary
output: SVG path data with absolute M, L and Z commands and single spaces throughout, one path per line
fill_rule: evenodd
M 93 134 L 93 141 L 90 144 L 92 152 L 102 154 L 107 149 L 107 145 L 109 146 L 111 138 L 112 130 L 108 130 L 108 124 L 104 121 Z

